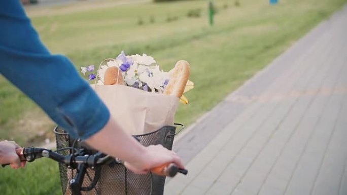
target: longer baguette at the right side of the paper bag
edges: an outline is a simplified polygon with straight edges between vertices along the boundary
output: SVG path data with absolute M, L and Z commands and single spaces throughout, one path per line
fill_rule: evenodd
M 185 60 L 180 60 L 172 69 L 171 79 L 168 82 L 164 94 L 181 98 L 190 74 L 190 65 Z

